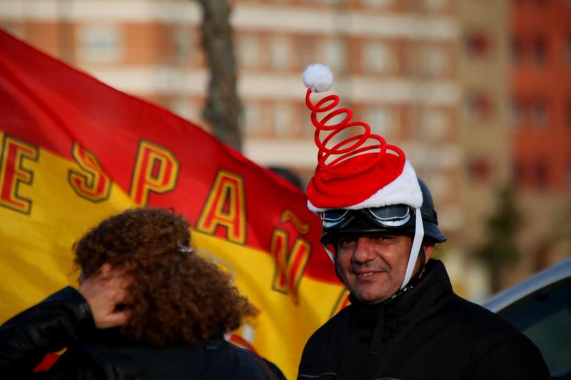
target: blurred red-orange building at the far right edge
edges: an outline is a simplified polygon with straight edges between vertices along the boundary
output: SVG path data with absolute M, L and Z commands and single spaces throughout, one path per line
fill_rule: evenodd
M 525 273 L 571 254 L 571 1 L 510 7 L 510 154 Z

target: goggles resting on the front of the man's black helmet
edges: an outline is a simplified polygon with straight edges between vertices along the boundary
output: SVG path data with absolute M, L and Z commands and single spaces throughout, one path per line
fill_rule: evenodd
M 410 221 L 412 215 L 407 205 L 390 205 L 385 207 L 364 208 L 361 210 L 333 209 L 320 212 L 321 227 L 324 229 L 343 228 L 357 215 L 365 215 L 380 227 L 403 227 Z

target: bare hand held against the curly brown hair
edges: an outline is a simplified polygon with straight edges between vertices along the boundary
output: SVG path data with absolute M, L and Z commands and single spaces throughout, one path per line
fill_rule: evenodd
M 131 312 L 124 309 L 128 299 L 127 287 L 132 279 L 121 269 L 101 265 L 93 276 L 80 277 L 79 293 L 86 299 L 98 329 L 119 327 L 127 323 Z

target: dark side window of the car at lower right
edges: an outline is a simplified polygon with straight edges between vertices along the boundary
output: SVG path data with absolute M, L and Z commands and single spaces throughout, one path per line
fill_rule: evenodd
M 498 312 L 541 350 L 552 377 L 571 375 L 571 279 L 564 279 Z

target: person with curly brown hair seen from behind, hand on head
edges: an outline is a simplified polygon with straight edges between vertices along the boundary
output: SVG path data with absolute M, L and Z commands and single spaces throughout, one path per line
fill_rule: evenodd
M 285 379 L 223 334 L 255 314 L 216 265 L 192 252 L 188 222 L 140 208 L 74 245 L 66 287 L 0 327 L 2 379 Z M 67 351 L 47 372 L 47 351 Z

